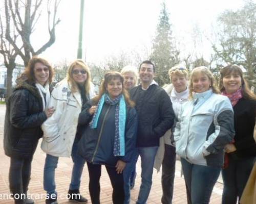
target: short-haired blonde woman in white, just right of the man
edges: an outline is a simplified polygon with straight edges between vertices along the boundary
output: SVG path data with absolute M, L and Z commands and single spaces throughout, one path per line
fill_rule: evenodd
M 166 85 L 164 87 L 164 90 L 170 97 L 170 100 L 173 104 L 175 116 L 176 118 L 178 118 L 181 105 L 188 101 L 188 72 L 186 68 L 177 65 L 169 69 L 168 74 L 172 84 Z M 172 127 L 172 129 L 174 129 L 174 126 Z M 160 170 L 160 167 L 162 165 L 161 183 L 163 195 L 161 198 L 161 202 L 163 204 L 170 204 L 173 200 L 176 148 L 172 129 L 169 129 L 164 134 L 164 136 L 160 138 L 160 146 L 157 151 L 154 164 L 154 167 L 158 171 Z

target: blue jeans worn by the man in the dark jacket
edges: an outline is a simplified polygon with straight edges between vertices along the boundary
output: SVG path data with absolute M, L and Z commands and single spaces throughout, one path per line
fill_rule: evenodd
M 152 186 L 152 174 L 158 146 L 138 147 L 137 149 L 138 154 L 136 158 L 140 156 L 141 159 L 141 185 L 136 204 L 144 204 L 147 201 Z

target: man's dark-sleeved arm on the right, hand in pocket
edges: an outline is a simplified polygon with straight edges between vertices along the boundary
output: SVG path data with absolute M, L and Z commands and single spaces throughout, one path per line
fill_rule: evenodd
M 170 101 L 170 97 L 163 90 L 160 95 L 160 123 L 154 127 L 154 133 L 159 137 L 162 137 L 164 133 L 169 130 L 174 123 L 175 114 L 173 110 L 172 101 Z

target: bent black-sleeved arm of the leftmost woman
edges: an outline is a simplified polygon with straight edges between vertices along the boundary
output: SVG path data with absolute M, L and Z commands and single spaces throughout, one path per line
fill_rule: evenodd
M 20 129 L 40 126 L 47 119 L 44 111 L 28 115 L 28 94 L 27 90 L 17 90 L 10 98 L 10 122 Z

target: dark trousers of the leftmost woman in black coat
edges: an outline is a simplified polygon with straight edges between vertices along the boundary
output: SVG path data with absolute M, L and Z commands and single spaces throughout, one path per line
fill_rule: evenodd
M 10 191 L 16 195 L 15 203 L 23 203 L 24 196 L 28 191 L 30 175 L 31 175 L 32 157 L 29 159 L 11 158 L 9 170 Z M 22 199 L 23 198 L 23 199 Z

